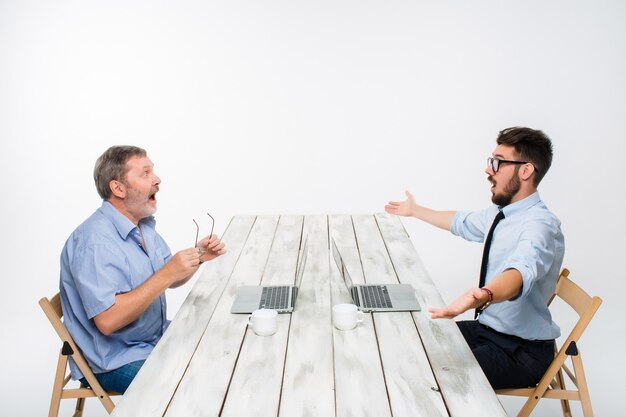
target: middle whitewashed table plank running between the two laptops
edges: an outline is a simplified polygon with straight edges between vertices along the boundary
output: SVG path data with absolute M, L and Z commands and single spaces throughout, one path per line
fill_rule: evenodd
M 303 236 L 309 253 L 291 315 L 278 415 L 330 417 L 335 396 L 326 216 L 306 216 Z

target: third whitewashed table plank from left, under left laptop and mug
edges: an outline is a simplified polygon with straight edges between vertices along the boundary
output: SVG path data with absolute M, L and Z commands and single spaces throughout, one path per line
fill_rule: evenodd
M 280 218 L 263 274 L 263 285 L 294 284 L 302 222 L 302 216 Z M 290 319 L 291 314 L 280 314 L 278 331 L 272 336 L 257 336 L 248 328 L 221 417 L 278 414 Z

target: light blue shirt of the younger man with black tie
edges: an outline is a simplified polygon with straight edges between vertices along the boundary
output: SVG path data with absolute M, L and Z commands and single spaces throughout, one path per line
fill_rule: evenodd
M 522 291 L 508 301 L 486 308 L 479 321 L 501 333 L 527 340 L 549 340 L 560 335 L 547 301 L 556 288 L 565 244 L 561 222 L 539 198 L 539 193 L 502 208 L 491 242 L 485 284 L 506 271 L 522 274 Z M 497 206 L 474 212 L 457 212 L 450 231 L 474 242 L 484 242 Z

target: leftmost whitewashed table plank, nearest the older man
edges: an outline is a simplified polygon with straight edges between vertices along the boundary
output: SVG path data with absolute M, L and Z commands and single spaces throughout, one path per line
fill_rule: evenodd
M 230 222 L 222 238 L 228 251 L 198 270 L 200 277 L 135 380 L 121 397 L 113 411 L 114 416 L 163 415 L 229 282 L 233 266 L 253 224 L 254 217 L 238 217 Z

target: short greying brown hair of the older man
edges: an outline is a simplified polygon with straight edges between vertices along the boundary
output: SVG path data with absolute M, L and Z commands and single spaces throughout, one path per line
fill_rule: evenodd
M 128 167 L 126 162 L 133 156 L 146 156 L 147 152 L 137 146 L 111 146 L 96 161 L 93 179 L 96 189 L 103 200 L 111 197 L 109 183 L 113 180 L 124 181 Z

